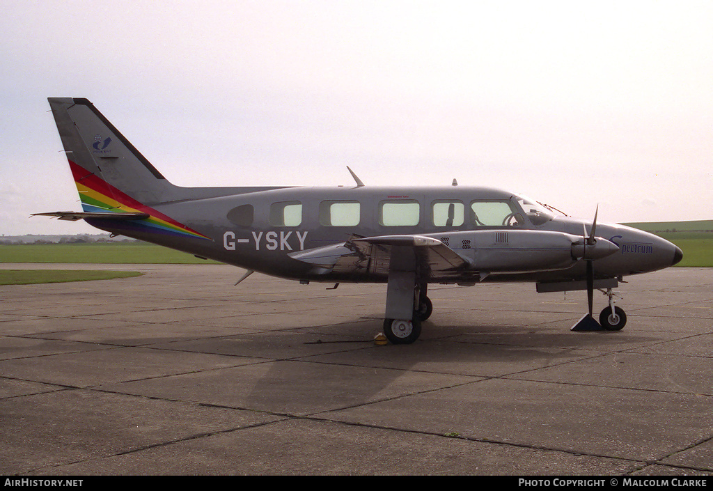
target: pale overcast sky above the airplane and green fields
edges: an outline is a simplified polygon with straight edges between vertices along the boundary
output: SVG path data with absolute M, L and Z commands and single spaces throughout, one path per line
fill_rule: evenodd
M 48 96 L 180 186 L 493 186 L 713 218 L 710 1 L 0 0 L 0 233 L 96 232 Z

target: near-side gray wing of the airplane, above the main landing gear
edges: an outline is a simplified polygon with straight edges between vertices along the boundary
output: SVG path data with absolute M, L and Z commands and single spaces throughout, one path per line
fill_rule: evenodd
M 315 266 L 318 273 L 383 275 L 389 274 L 395 253 L 412 250 L 416 268 L 425 278 L 462 275 L 471 260 L 459 255 L 441 241 L 426 236 L 352 236 L 349 241 L 292 253 L 290 256 Z

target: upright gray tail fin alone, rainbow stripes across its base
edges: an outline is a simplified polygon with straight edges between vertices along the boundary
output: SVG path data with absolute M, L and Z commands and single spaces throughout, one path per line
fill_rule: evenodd
M 84 211 L 136 211 L 175 186 L 85 98 L 48 98 Z

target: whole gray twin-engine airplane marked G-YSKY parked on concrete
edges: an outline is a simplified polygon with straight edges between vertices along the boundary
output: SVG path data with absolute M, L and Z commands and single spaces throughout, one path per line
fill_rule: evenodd
M 384 334 L 413 343 L 431 315 L 429 283 L 535 282 L 538 292 L 586 290 L 573 330 L 619 330 L 622 277 L 667 268 L 679 248 L 634 228 L 555 216 L 493 188 L 182 188 L 168 182 L 85 98 L 48 98 L 83 211 L 81 220 L 201 258 L 268 275 L 386 283 Z M 237 283 L 236 283 L 237 284 Z M 609 305 L 599 323 L 593 292 Z

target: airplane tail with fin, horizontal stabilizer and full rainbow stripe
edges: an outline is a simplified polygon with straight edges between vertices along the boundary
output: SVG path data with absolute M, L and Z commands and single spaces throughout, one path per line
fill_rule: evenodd
M 48 101 L 83 212 L 44 215 L 83 218 L 102 230 L 149 242 L 158 243 L 160 237 L 209 239 L 160 211 L 161 203 L 185 197 L 183 188 L 161 176 L 91 102 L 56 97 Z

